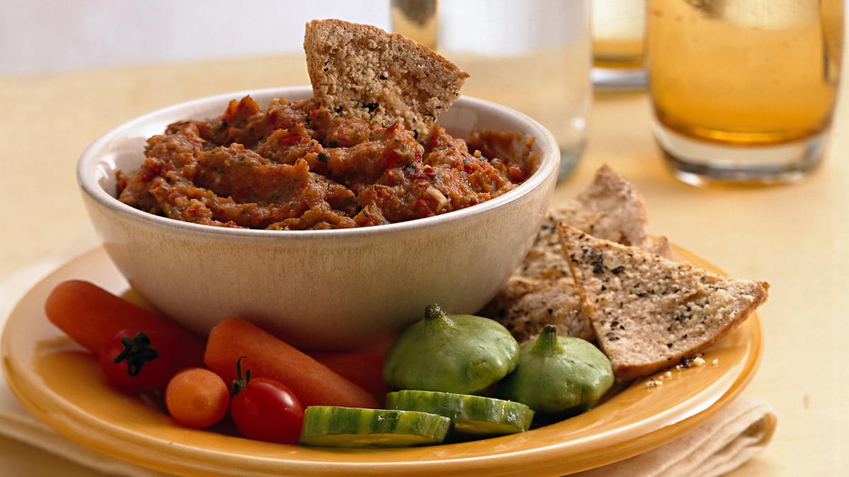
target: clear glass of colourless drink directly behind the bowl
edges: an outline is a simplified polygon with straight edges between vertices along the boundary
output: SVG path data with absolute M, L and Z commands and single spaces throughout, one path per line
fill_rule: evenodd
M 392 29 L 469 72 L 464 94 L 518 109 L 580 158 L 592 101 L 588 0 L 392 0 Z

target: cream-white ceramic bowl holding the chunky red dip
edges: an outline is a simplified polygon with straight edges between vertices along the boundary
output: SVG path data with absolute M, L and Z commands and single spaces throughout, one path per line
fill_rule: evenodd
M 147 137 L 167 124 L 221 115 L 250 94 L 301 99 L 309 87 L 228 93 L 159 109 L 100 137 L 82 154 L 77 180 L 115 265 L 153 306 L 200 334 L 239 316 L 306 350 L 385 343 L 440 303 L 475 312 L 518 266 L 540 227 L 559 166 L 557 143 L 537 121 L 480 99 L 458 98 L 440 123 L 536 137 L 539 169 L 496 199 L 410 222 L 317 231 L 210 227 L 154 216 L 115 199 L 115 171 L 143 161 Z

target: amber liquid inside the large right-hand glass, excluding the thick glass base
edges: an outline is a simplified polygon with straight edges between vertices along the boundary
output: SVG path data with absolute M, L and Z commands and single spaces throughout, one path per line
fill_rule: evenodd
M 842 0 L 649 0 L 649 90 L 662 126 L 765 146 L 828 129 Z

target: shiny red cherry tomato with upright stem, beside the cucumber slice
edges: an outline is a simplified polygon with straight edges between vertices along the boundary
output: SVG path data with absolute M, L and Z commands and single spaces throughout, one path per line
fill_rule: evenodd
M 273 379 L 242 377 L 242 356 L 236 362 L 230 417 L 245 437 L 257 441 L 295 444 L 301 437 L 304 409 L 295 394 Z

